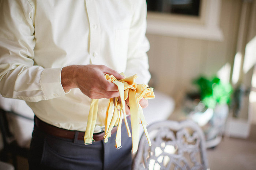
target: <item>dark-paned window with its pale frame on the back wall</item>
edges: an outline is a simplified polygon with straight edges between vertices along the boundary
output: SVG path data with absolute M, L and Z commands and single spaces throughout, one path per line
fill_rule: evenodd
M 223 40 L 223 33 L 219 28 L 222 0 L 147 1 L 147 33 L 216 41 Z M 185 1 L 191 3 L 189 5 L 178 4 L 178 2 L 185 3 Z M 198 9 L 195 7 L 196 4 Z M 183 9 L 181 10 L 181 8 Z M 182 14 L 181 11 L 183 11 Z

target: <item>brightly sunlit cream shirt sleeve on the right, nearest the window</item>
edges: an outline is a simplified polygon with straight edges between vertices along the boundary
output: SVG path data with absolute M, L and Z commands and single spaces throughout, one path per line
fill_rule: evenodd
M 146 52 L 150 45 L 146 38 L 147 6 L 145 0 L 135 1 L 134 14 L 129 31 L 129 45 L 126 75 L 138 74 L 138 83 L 148 83 L 151 76 L 148 71 L 148 57 Z

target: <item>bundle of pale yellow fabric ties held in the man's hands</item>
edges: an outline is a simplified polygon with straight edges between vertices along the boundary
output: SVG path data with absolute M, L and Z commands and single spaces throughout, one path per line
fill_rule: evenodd
M 125 76 L 123 73 L 121 75 Z M 113 75 L 106 74 L 105 78 L 110 82 L 116 84 L 120 93 L 119 97 L 109 99 L 108 107 L 106 110 L 105 120 L 105 135 L 104 141 L 108 142 L 108 138 L 111 136 L 111 130 L 114 126 L 117 126 L 116 133 L 116 145 L 117 149 L 121 148 L 121 124 L 122 119 L 127 129 L 129 137 L 132 137 L 132 153 L 135 153 L 139 145 L 139 128 L 142 124 L 144 133 L 147 137 L 148 144 L 151 146 L 150 139 L 148 137 L 146 120 L 143 115 L 142 107 L 139 104 L 140 99 L 153 99 L 155 98 L 153 88 L 148 87 L 147 84 L 136 84 L 135 79 L 138 78 L 137 74 L 128 78 L 117 80 Z M 125 112 L 125 100 L 129 97 L 129 108 L 131 113 L 131 127 L 132 135 L 127 123 Z M 115 103 L 114 103 L 115 101 Z M 112 109 L 114 107 L 114 111 Z M 90 105 L 90 111 L 87 121 L 86 132 L 84 134 L 84 144 L 91 144 L 93 141 L 93 133 L 97 119 L 98 112 L 98 99 L 93 99 Z M 122 115 L 123 112 L 123 115 Z

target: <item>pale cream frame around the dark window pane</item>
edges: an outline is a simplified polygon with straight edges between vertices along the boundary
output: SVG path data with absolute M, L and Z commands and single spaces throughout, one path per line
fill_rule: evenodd
M 223 41 L 219 27 L 222 0 L 201 0 L 198 16 L 147 12 L 147 33 Z

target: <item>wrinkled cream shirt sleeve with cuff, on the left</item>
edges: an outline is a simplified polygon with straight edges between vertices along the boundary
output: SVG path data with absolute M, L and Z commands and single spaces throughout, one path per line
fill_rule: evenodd
M 61 68 L 34 64 L 34 8 L 27 0 L 0 3 L 0 94 L 28 102 L 65 95 Z

